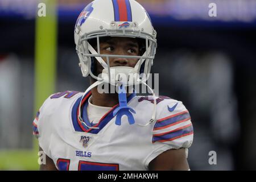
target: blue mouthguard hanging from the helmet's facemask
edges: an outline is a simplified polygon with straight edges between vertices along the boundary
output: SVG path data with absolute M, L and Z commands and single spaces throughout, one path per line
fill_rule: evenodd
M 133 114 L 131 113 L 136 114 L 136 112 L 131 107 L 127 106 L 126 90 L 123 85 L 119 86 L 118 100 L 119 106 L 113 112 L 113 116 L 117 115 L 117 117 L 115 118 L 115 125 L 121 125 L 121 119 L 123 115 L 126 115 L 130 125 L 133 125 L 135 121 Z

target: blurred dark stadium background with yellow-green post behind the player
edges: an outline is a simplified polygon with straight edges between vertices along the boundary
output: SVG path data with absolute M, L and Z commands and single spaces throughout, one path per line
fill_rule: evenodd
M 73 28 L 89 2 L 0 0 L 0 170 L 37 170 L 36 111 L 49 94 L 88 87 Z M 158 32 L 159 94 L 183 101 L 191 114 L 191 170 L 255 170 L 256 0 L 138 2 Z M 210 17 L 212 2 L 217 16 Z

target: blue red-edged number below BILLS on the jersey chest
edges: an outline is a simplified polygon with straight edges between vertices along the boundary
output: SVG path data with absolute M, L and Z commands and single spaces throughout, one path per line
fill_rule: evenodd
M 69 164 L 70 164 L 69 159 L 57 160 L 57 167 L 60 171 L 68 171 Z M 78 170 L 79 171 L 119 171 L 119 165 L 109 164 L 109 163 L 88 162 L 88 161 L 80 160 Z

